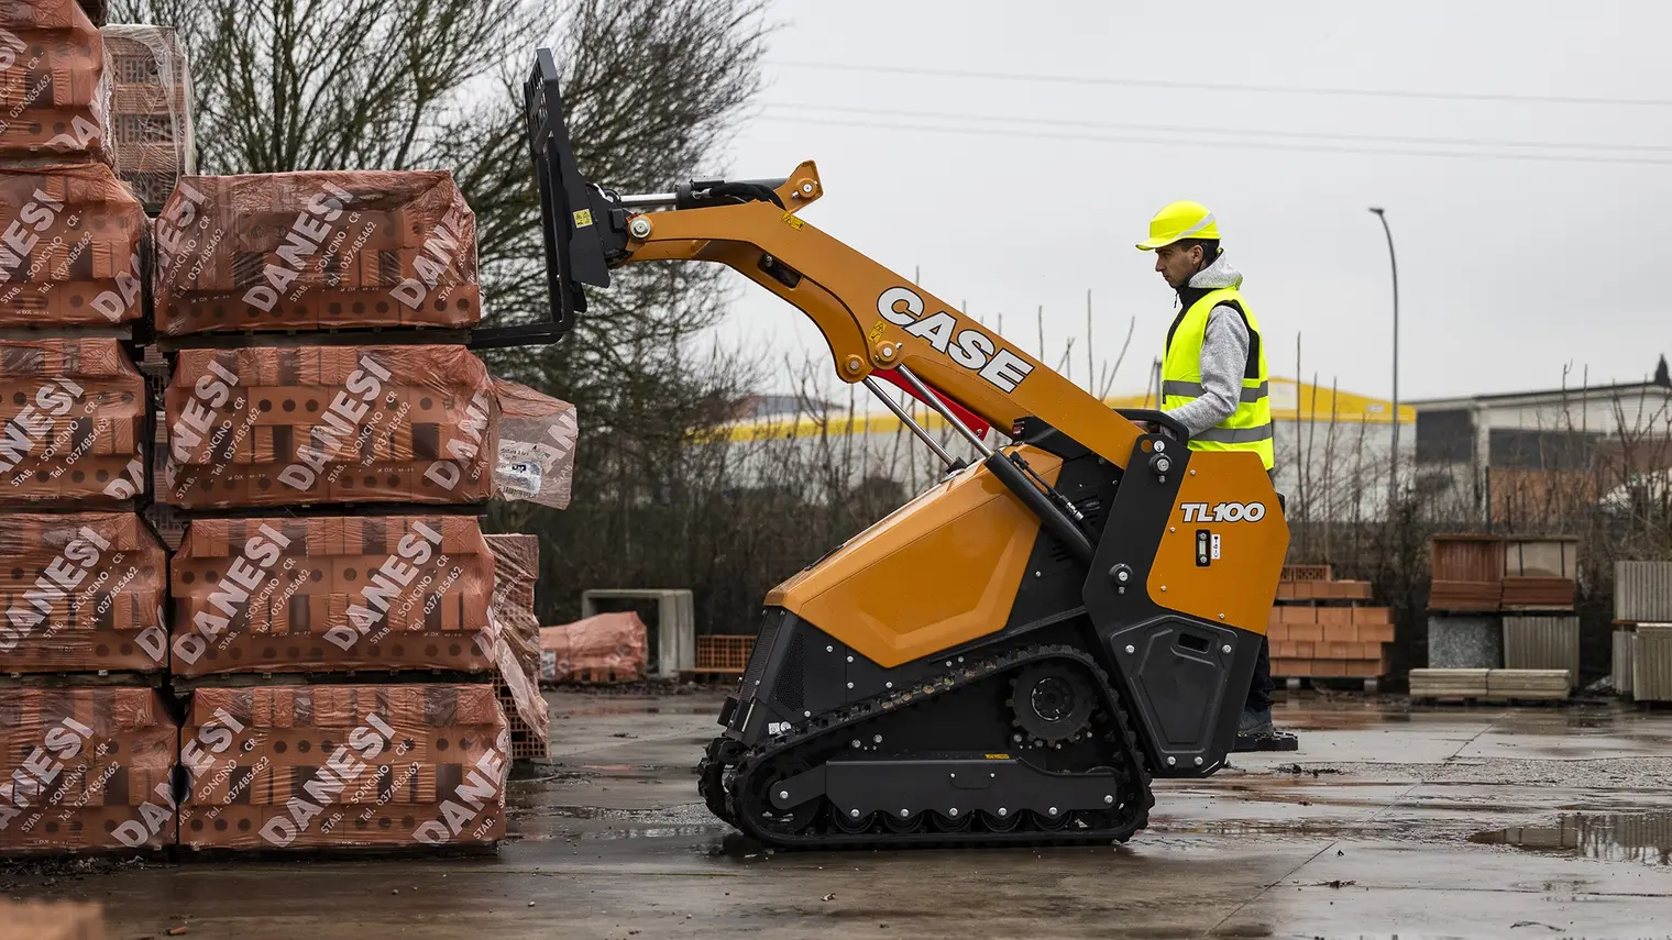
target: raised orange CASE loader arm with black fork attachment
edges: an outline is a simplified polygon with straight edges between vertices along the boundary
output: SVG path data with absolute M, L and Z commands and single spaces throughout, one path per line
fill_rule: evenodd
M 540 50 L 528 120 L 545 216 L 558 331 L 585 309 L 585 288 L 642 261 L 712 261 L 801 309 L 824 335 L 836 375 L 859 383 L 908 368 L 970 413 L 1013 433 L 1040 418 L 1124 468 L 1140 430 L 997 331 L 799 217 L 824 192 L 808 161 L 784 179 L 692 181 L 675 192 L 620 196 L 573 161 L 558 72 Z M 1175 437 L 1182 428 L 1172 427 Z

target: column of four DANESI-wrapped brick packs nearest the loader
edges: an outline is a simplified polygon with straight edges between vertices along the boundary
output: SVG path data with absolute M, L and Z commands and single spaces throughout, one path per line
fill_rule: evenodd
M 480 318 L 451 177 L 184 177 L 152 288 L 172 366 L 157 497 L 189 519 L 172 582 L 182 736 L 263 751 L 182 749 L 181 845 L 498 840 L 512 739 L 497 684 L 525 728 L 543 718 L 525 682 L 503 682 L 502 659 L 525 672 L 490 614 L 480 515 L 502 408 L 453 336 L 403 333 Z

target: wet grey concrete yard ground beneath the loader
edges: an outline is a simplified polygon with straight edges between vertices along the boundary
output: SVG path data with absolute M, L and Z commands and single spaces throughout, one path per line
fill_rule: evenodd
M 552 694 L 487 858 L 12 876 L 164 937 L 1669 937 L 1672 713 L 1277 706 L 1120 848 L 766 853 L 697 803 L 719 694 Z M 1291 766 L 1292 764 L 1292 766 Z

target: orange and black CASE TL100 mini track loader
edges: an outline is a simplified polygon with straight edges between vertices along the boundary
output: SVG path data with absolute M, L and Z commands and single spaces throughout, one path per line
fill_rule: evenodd
M 575 166 L 547 50 L 527 100 L 557 331 L 614 268 L 726 264 L 806 313 L 836 375 L 950 465 L 766 595 L 701 764 L 716 816 L 782 848 L 1107 843 L 1144 828 L 1152 776 L 1224 766 L 1289 540 L 1256 455 L 1110 410 L 806 222 L 811 162 L 619 194 Z M 884 371 L 978 460 L 938 448 Z

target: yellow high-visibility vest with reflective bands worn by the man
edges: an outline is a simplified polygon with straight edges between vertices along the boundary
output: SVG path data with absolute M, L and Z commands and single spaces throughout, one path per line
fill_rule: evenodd
M 1277 462 L 1272 453 L 1271 376 L 1266 371 L 1266 343 L 1259 321 L 1236 288 L 1207 291 L 1192 303 L 1167 336 L 1167 356 L 1160 366 L 1162 410 L 1170 411 L 1202 396 L 1202 341 L 1207 318 L 1219 304 L 1229 303 L 1242 314 L 1249 330 L 1249 363 L 1242 373 L 1242 400 L 1224 421 L 1190 438 L 1190 450 L 1252 450 L 1266 470 Z

